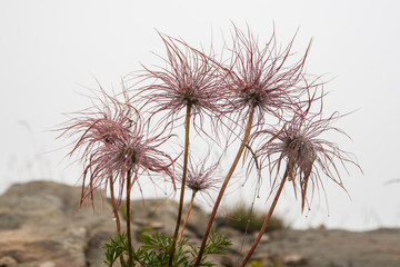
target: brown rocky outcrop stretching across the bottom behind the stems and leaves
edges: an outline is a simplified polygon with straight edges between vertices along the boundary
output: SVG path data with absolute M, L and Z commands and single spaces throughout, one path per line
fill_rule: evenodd
M 90 205 L 78 208 L 80 192 L 76 187 L 33 181 L 12 186 L 0 196 L 0 267 L 102 266 L 102 244 L 116 233 L 112 209 L 100 194 L 94 197 L 94 211 Z M 143 206 L 139 200 L 132 207 L 136 236 L 149 230 L 172 235 L 177 202 L 146 200 Z M 208 216 L 194 208 L 186 236 L 199 244 L 207 220 Z M 216 227 L 233 245 L 229 255 L 214 263 L 237 266 L 240 251 L 250 247 L 254 236 L 249 235 L 242 245 L 239 231 L 226 224 Z M 262 238 L 253 260 L 257 266 L 398 267 L 400 230 L 272 231 Z

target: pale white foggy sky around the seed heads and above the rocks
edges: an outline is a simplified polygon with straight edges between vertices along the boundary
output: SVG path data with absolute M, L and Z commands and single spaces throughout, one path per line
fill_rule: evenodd
M 313 38 L 307 68 L 334 78 L 326 86 L 327 110 L 357 110 L 338 125 L 353 142 L 338 142 L 364 171 L 342 176 L 351 200 L 328 182 L 330 216 L 323 197 L 301 216 L 290 190 L 278 214 L 301 228 L 400 227 L 400 182 L 387 185 L 400 180 L 399 10 L 389 0 L 0 0 L 0 191 L 32 179 L 76 182 L 79 168 L 61 161 L 67 150 L 46 152 L 66 145 L 48 130 L 89 105 L 78 92 L 96 88 L 93 77 L 118 89 L 140 62 L 158 63 L 156 29 L 207 48 L 211 37 L 218 46 L 221 32 L 229 36 L 231 22 L 242 29 L 247 22 L 261 40 L 274 22 L 283 44 L 299 29 L 293 51 Z

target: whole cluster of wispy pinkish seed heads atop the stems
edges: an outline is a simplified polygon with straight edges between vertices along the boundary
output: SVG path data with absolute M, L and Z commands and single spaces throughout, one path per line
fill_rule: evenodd
M 62 128 L 63 136 L 78 136 L 71 155 L 82 151 L 82 200 L 92 198 L 93 190 L 107 184 L 109 177 L 119 184 L 119 199 L 127 176 L 134 182 L 143 174 L 162 174 L 174 182 L 172 169 L 179 156 L 161 147 L 174 137 L 171 132 L 176 128 L 169 126 L 186 122 L 183 109 L 190 110 L 188 120 L 194 118 L 191 127 L 198 136 L 206 134 L 211 138 L 218 135 L 217 127 L 207 128 L 206 120 L 227 131 L 224 137 L 239 137 L 236 127 L 244 129 L 242 122 L 254 115 L 254 121 L 249 123 L 246 154 L 252 155 L 252 166 L 260 171 L 268 169 L 276 177 L 272 185 L 279 182 L 279 174 L 284 170 L 283 176 L 293 182 L 296 191 L 300 190 L 302 209 L 309 185 L 313 190 L 321 184 L 322 175 L 342 186 L 338 162 L 346 168 L 346 164 L 357 161 L 320 137 L 330 130 L 343 134 L 331 126 L 340 116 L 323 119 L 321 110 L 310 111 L 311 103 L 324 97 L 319 91 L 319 79 L 308 79 L 304 71 L 311 42 L 296 59 L 291 51 L 294 38 L 282 49 L 273 33 L 261 46 L 249 29 L 243 32 L 234 27 L 231 47 L 222 49 L 229 59 L 218 60 L 213 52 L 206 53 L 169 36 L 160 37 L 167 51 L 167 57 L 161 57 L 164 67 L 143 67 L 141 72 L 129 76 L 128 81 L 139 81 L 123 88 L 122 95 L 133 97 L 120 102 L 117 96 L 102 91 L 106 100 L 101 105 L 79 112 Z M 269 118 L 278 120 L 269 123 Z M 153 119 L 161 121 L 157 123 L 158 134 L 150 130 Z M 187 129 L 189 132 L 190 127 Z M 230 141 L 220 144 L 226 146 L 223 151 L 229 145 Z M 190 164 L 186 186 L 199 191 L 217 189 L 218 166 L 206 167 L 206 160 Z

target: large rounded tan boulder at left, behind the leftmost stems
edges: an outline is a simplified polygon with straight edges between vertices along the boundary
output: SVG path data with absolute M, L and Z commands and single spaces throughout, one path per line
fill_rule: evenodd
M 111 207 L 97 194 L 96 207 L 79 209 L 80 188 L 34 181 L 16 185 L 0 196 L 0 258 L 23 266 L 87 266 L 88 241 L 116 226 Z

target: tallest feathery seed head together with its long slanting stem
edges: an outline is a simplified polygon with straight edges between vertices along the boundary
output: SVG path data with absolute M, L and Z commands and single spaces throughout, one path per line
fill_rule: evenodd
M 239 130 L 243 131 L 243 137 L 240 138 L 241 145 L 237 157 L 216 200 L 196 266 L 200 264 L 217 209 L 244 148 L 252 154 L 249 144 L 250 136 L 264 125 L 266 115 L 271 115 L 280 121 L 286 113 L 300 110 L 303 106 L 301 96 L 317 87 L 317 82 L 307 81 L 303 72 L 310 44 L 299 61 L 290 63 L 293 41 L 294 38 L 283 51 L 280 51 L 272 34 L 266 46 L 260 48 L 250 29 L 243 33 L 234 27 L 233 44 L 229 49 L 232 55 L 231 62 L 219 70 L 222 71 L 223 86 L 229 91 L 227 106 L 230 107 L 230 115 L 232 115 L 230 118 L 232 136 L 240 138 L 241 135 L 233 134 L 236 127 L 239 127 Z M 229 113 L 224 112 L 224 115 Z M 242 121 L 247 121 L 244 127 L 241 125 Z

